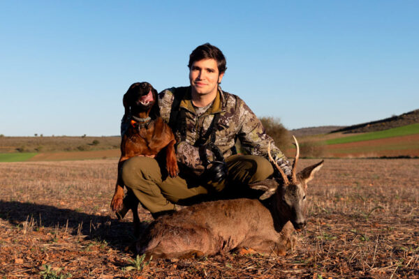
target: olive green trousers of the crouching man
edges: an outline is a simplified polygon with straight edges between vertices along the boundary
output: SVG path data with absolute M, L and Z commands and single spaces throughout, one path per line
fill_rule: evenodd
M 274 173 L 271 163 L 263 157 L 234 155 L 226 159 L 228 178 L 221 183 L 182 176 L 164 175 L 154 158 L 133 157 L 122 166 L 122 179 L 151 213 L 170 211 L 175 204 L 193 204 L 203 199 L 223 198 L 223 195 L 240 197 L 249 190 L 250 183 L 267 179 Z M 167 177 L 166 177 L 167 176 Z M 131 191 L 129 191 L 131 190 Z

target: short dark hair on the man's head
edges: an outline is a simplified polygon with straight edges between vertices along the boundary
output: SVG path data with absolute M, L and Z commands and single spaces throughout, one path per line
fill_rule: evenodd
M 219 68 L 219 73 L 226 73 L 227 67 L 227 61 L 226 57 L 224 57 L 223 52 L 216 47 L 215 45 L 211 45 L 210 43 L 205 43 L 203 45 L 200 45 L 196 47 L 195 50 L 189 55 L 189 63 L 188 68 L 191 70 L 191 66 L 193 62 L 200 61 L 203 59 L 215 59 L 217 66 Z

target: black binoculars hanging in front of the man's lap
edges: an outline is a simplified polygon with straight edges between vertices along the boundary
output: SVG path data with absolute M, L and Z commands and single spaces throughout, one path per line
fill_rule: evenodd
M 214 160 L 210 161 L 207 157 L 207 150 L 214 155 Z M 226 179 L 228 174 L 227 164 L 224 161 L 223 153 L 214 144 L 203 144 L 199 147 L 201 160 L 205 164 L 204 176 L 208 181 L 220 183 Z

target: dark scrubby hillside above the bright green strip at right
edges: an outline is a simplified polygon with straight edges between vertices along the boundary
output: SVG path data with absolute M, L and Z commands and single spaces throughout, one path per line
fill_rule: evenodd
M 414 123 L 419 123 L 419 110 L 413 110 L 411 112 L 406 112 L 398 116 L 392 116 L 386 119 L 381 119 L 377 121 L 371 121 L 367 123 L 361 123 L 353 126 L 347 126 L 344 128 L 338 128 L 336 130 L 330 131 L 330 133 L 368 133 L 368 132 L 377 132 L 381 130 L 388 130 L 391 128 L 397 128 L 401 126 L 406 126 Z

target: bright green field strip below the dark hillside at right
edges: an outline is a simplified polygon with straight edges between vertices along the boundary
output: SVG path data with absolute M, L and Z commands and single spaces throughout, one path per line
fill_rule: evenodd
M 378 132 L 365 133 L 362 135 L 353 135 L 349 137 L 339 137 L 332 140 L 326 140 L 326 144 L 346 144 L 350 142 L 363 142 L 367 140 L 379 140 L 386 137 L 402 137 L 404 135 L 419 134 L 419 123 L 407 126 L 382 130 Z

